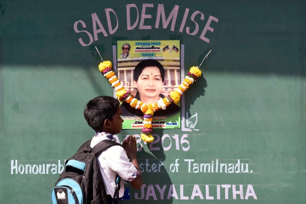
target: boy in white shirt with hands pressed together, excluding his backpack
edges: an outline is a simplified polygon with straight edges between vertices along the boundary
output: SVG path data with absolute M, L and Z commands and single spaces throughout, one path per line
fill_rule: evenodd
M 114 141 L 113 135 L 121 132 L 123 119 L 119 101 L 116 98 L 99 96 L 91 99 L 85 106 L 84 117 L 88 125 L 96 131 L 91 140 L 91 147 L 104 139 Z M 117 175 L 121 177 L 119 198 L 124 194 L 123 181 L 130 182 L 136 189 L 140 189 L 143 183 L 136 157 L 135 137 L 130 135 L 123 140 L 122 146 L 123 148 L 121 146 L 110 147 L 98 157 L 109 203 L 117 203 L 118 195 L 114 198 Z

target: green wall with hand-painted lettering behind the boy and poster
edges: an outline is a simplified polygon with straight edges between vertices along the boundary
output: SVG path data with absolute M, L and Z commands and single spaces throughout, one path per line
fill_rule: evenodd
M 86 102 L 113 95 L 90 46 L 103 44 L 112 61 L 122 39 L 180 39 L 185 73 L 213 50 L 183 95 L 184 128 L 138 143 L 145 186 L 127 185 L 132 199 L 122 203 L 304 203 L 305 9 L 304 1 L 0 1 L 1 203 L 50 203 L 64 160 L 94 135 Z M 93 16 L 107 36 L 96 21 L 95 39 Z M 87 33 L 75 32 L 77 21 Z M 140 130 L 117 136 L 130 134 Z

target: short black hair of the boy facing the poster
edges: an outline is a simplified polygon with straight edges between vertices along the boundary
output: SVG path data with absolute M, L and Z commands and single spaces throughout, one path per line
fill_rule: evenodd
M 102 132 L 104 121 L 106 119 L 113 121 L 119 104 L 119 101 L 114 97 L 98 96 L 86 104 L 84 118 L 92 129 Z

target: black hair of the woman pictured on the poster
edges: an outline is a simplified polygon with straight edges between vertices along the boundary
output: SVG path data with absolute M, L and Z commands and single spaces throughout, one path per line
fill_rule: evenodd
M 153 60 L 153 59 L 147 59 L 143 60 L 136 65 L 133 73 L 133 79 L 135 81 L 138 81 L 138 78 L 142 72 L 142 70 L 146 67 L 158 67 L 160 71 L 160 76 L 162 77 L 162 82 L 164 82 L 165 79 L 165 69 L 162 66 L 162 64 L 159 63 L 159 61 Z

